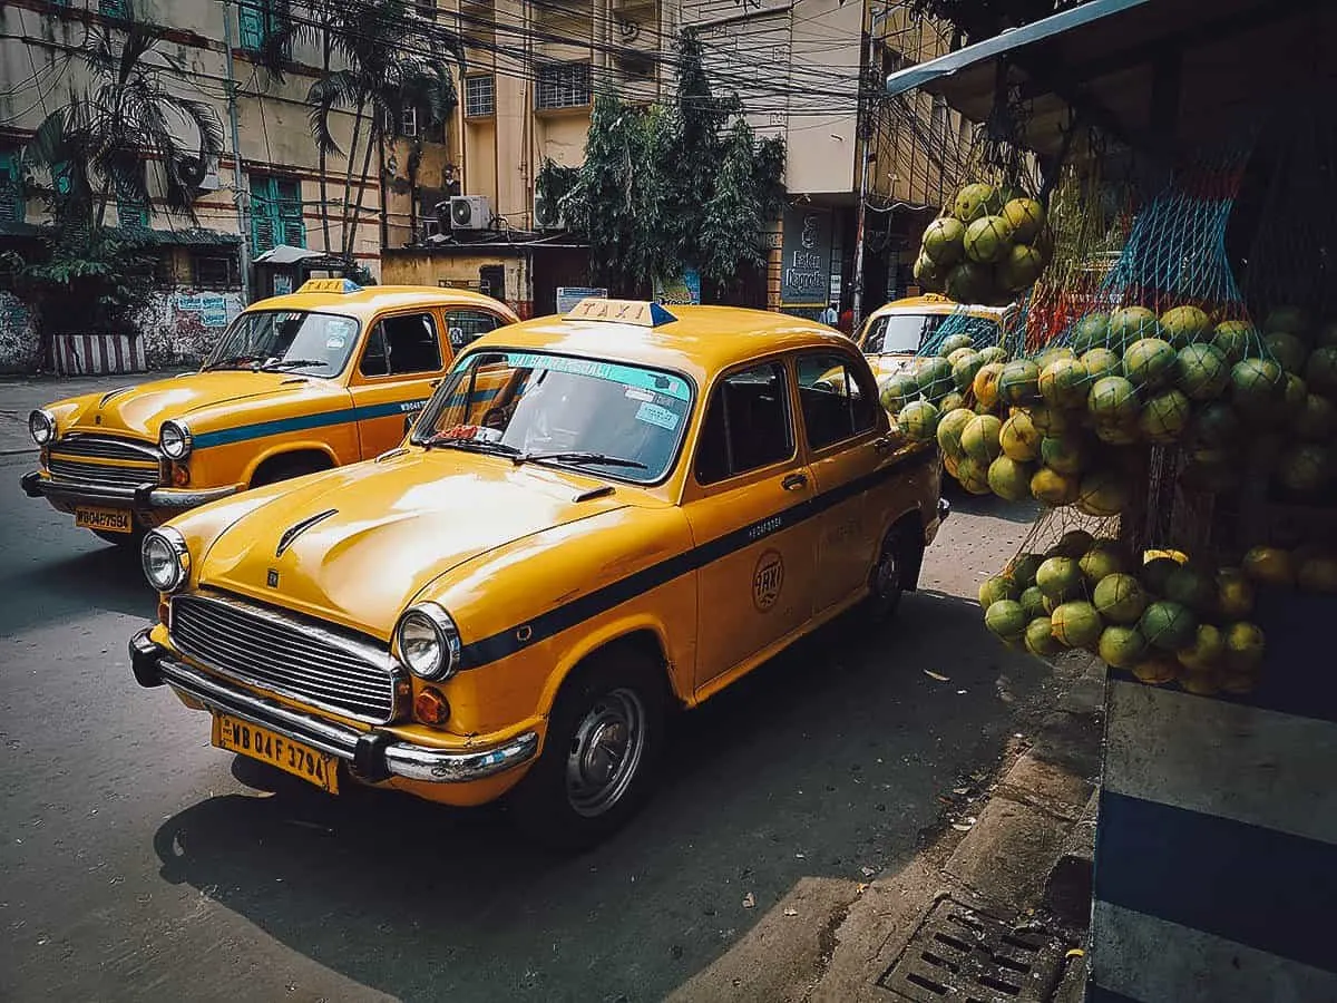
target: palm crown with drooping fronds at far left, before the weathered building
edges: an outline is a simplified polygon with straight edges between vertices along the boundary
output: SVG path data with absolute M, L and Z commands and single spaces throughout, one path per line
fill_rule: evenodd
M 60 223 L 102 229 L 112 198 L 148 205 L 148 163 L 160 173 L 167 213 L 195 222 L 185 164 L 222 152 L 222 123 L 182 92 L 183 68 L 156 49 L 166 28 L 131 13 L 116 35 L 88 28 L 88 82 L 43 119 L 25 159 L 52 173 Z

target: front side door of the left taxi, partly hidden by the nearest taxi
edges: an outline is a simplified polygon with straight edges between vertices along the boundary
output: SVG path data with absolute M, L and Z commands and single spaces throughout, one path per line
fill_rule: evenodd
M 364 460 L 400 444 L 445 373 L 449 353 L 441 350 L 436 312 L 420 309 L 377 318 L 349 385 Z

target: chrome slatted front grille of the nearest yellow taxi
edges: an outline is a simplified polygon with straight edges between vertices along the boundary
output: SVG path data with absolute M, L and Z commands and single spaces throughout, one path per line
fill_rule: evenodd
M 406 693 L 376 643 L 230 595 L 175 596 L 168 627 L 182 654 L 206 667 L 356 721 L 393 721 Z

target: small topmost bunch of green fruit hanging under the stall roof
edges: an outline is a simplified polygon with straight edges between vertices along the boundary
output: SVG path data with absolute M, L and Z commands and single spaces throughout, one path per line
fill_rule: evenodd
M 915 278 L 961 304 L 1001 306 L 1035 285 L 1052 257 L 1039 201 L 975 182 L 924 230 Z

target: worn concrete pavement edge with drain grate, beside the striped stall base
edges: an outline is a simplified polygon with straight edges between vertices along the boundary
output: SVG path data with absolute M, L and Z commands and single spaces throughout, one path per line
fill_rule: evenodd
M 671 1002 L 1083 999 L 1104 665 L 1066 661 L 1059 707 L 992 780 L 961 789 L 971 796 L 908 867 L 796 888 L 775 913 L 825 916 L 808 940 L 767 916 Z

